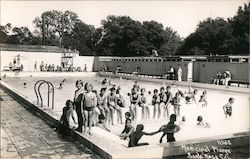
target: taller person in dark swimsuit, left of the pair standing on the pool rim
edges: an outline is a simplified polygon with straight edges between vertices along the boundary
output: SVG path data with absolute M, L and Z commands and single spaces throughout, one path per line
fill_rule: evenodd
M 75 96 L 74 96 L 74 108 L 76 110 L 77 119 L 78 119 L 78 128 L 76 131 L 82 132 L 83 126 L 83 101 L 84 101 L 84 89 L 83 82 L 81 80 L 76 81 Z

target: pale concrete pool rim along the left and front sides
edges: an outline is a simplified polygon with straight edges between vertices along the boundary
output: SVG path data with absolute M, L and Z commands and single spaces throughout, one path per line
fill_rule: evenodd
M 58 123 L 60 116 L 58 116 L 58 114 L 54 113 L 52 110 L 42 109 L 41 107 L 33 105 L 31 102 L 27 101 L 25 97 L 22 97 L 22 95 L 17 94 L 6 87 L 4 82 L 1 82 L 1 87 L 11 96 L 17 99 L 18 102 L 24 103 L 28 110 L 37 113 L 48 124 Z M 102 158 L 176 158 L 177 156 L 178 158 L 187 158 L 188 155 L 192 154 L 198 154 L 201 156 L 203 155 L 203 157 L 205 155 L 221 155 L 229 156 L 230 158 L 238 158 L 239 156 L 241 158 L 247 158 L 249 156 L 249 131 L 195 139 L 195 141 L 185 140 L 175 143 L 156 144 L 136 148 L 127 148 L 124 145 L 111 142 L 110 140 L 95 134 L 90 136 L 73 131 L 72 135 L 77 141 L 85 144 L 88 148 L 100 155 Z M 223 141 L 225 144 L 218 144 L 218 141 Z M 201 152 L 206 146 L 209 149 L 209 153 Z M 204 148 L 199 149 L 200 147 Z M 214 147 L 219 148 L 217 150 Z M 220 153 L 218 152 L 219 150 L 221 150 Z

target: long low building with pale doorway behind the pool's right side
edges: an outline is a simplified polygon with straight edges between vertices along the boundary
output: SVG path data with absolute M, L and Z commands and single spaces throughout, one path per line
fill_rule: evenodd
M 249 56 L 96 57 L 94 71 L 104 67 L 115 72 L 163 76 L 172 66 L 182 68 L 183 81 L 211 83 L 218 71 L 230 71 L 233 80 L 249 81 Z

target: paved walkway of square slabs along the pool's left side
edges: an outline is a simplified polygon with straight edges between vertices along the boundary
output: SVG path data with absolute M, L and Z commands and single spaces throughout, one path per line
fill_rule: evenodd
M 1 159 L 100 159 L 72 139 L 63 139 L 40 118 L 0 90 Z

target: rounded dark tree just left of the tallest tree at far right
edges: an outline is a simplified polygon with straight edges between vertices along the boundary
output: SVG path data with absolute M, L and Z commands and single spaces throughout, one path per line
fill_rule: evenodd
M 229 50 L 229 41 L 232 37 L 232 30 L 227 21 L 222 18 L 208 18 L 200 22 L 194 33 L 186 38 L 184 44 L 185 53 L 197 54 L 227 54 Z M 192 50 L 192 51 L 191 51 Z

